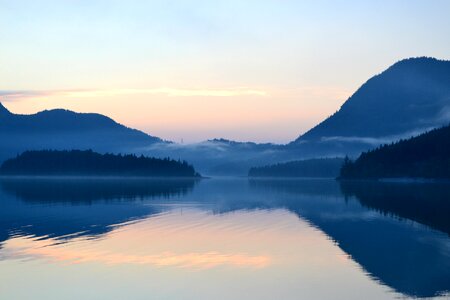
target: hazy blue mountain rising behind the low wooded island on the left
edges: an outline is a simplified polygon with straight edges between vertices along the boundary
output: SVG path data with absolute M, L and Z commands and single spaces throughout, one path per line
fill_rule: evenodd
M 0 140 L 0 161 L 26 150 L 93 149 L 99 152 L 134 152 L 163 142 L 100 114 L 55 109 L 32 115 L 18 115 L 9 112 L 1 103 Z

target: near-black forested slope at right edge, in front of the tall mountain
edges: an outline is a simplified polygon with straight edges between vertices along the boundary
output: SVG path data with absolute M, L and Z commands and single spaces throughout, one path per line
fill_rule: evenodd
M 364 152 L 346 160 L 342 179 L 450 178 L 450 126 Z

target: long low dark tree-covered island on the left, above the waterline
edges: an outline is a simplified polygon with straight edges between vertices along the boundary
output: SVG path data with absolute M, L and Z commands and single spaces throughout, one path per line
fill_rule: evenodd
M 6 160 L 0 175 L 200 177 L 186 161 L 92 150 L 26 151 Z

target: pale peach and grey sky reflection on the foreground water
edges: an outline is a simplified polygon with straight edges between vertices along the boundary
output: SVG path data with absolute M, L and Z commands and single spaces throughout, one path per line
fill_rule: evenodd
M 3 245 L 4 295 L 26 295 L 15 290 L 15 281 L 34 274 L 29 291 L 59 282 L 35 294 L 50 299 L 67 291 L 66 299 L 85 293 L 72 290 L 70 280 L 82 290 L 95 281 L 91 288 L 96 296 L 85 299 L 117 297 L 124 289 L 129 299 L 211 299 L 214 294 L 216 299 L 358 299 L 354 286 L 367 299 L 395 296 L 386 294 L 323 233 L 282 209 L 213 215 L 176 206 L 115 227 L 100 239 L 53 242 L 24 236 Z

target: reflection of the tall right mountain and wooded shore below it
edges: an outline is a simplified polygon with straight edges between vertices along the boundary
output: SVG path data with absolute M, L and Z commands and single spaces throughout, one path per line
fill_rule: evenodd
M 255 180 L 250 184 L 265 195 L 274 193 L 279 198 L 279 206 L 286 207 L 317 226 L 367 272 L 396 291 L 409 296 L 431 297 L 449 290 L 450 253 L 447 236 L 423 226 L 415 226 L 407 219 L 399 220 L 386 215 L 395 214 L 423 221 L 432 212 L 426 204 L 421 205 L 419 198 L 434 204 L 442 203 L 445 197 L 442 191 L 416 186 L 412 192 L 421 196 L 412 200 L 410 208 L 398 210 L 395 203 L 407 199 L 407 196 L 401 199 L 396 199 L 396 196 L 409 189 L 407 185 L 403 188 L 381 189 L 378 196 L 369 200 L 363 195 L 372 190 L 364 194 L 355 190 L 356 202 L 345 198 L 334 181 Z M 364 187 L 357 191 L 362 189 Z M 407 192 L 406 195 L 411 193 Z M 391 199 L 394 204 L 389 203 Z M 367 210 L 366 207 L 376 208 L 382 214 Z M 448 205 L 442 207 L 443 210 L 447 208 Z M 440 217 L 437 217 L 436 223 L 430 224 L 432 220 L 426 219 L 424 223 L 441 230 L 448 229 Z

